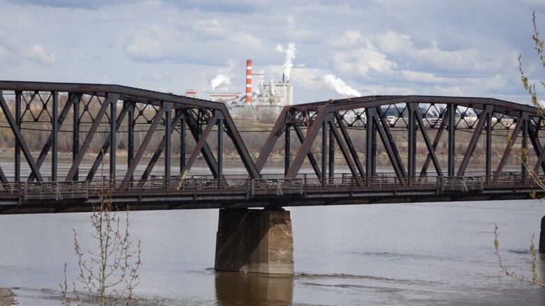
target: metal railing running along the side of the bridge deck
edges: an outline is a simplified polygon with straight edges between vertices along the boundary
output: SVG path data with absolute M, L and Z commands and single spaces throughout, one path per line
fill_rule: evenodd
M 417 176 L 398 178 L 396 176 L 354 177 L 338 175 L 332 178 L 317 178 L 302 174 L 298 178 L 279 178 L 282 175 L 266 175 L 262 178 L 244 176 L 191 176 L 187 178 L 164 178 L 153 176 L 147 180 L 135 179 L 123 183 L 122 179 L 108 176 L 93 181 L 73 182 L 3 182 L 0 183 L 1 198 L 31 200 L 88 199 L 101 194 L 112 197 L 147 197 L 193 195 L 194 197 L 245 194 L 248 197 L 283 196 L 324 192 L 365 192 L 400 190 L 435 190 L 442 192 L 475 192 L 486 189 L 523 188 L 533 185 L 534 178 L 520 173 L 506 172 L 500 176 Z M 539 176 L 545 182 L 545 176 Z

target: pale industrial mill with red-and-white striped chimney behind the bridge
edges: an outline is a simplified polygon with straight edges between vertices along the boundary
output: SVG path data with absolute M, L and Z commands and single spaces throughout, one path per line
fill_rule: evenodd
M 254 86 L 253 77 L 258 80 Z M 273 121 L 286 105 L 293 105 L 293 86 L 282 75 L 281 82 L 265 82 L 265 74 L 252 73 L 252 60 L 246 61 L 245 92 L 215 91 L 210 100 L 224 102 L 233 118 Z

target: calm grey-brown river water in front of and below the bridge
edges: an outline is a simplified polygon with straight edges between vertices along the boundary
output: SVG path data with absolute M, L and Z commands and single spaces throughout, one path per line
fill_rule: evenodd
M 530 276 L 543 201 L 314 206 L 291 211 L 296 274 L 215 273 L 217 210 L 136 211 L 143 305 L 544 305 L 545 289 L 500 271 L 493 249 Z M 59 305 L 78 274 L 73 229 L 89 243 L 88 213 L 0 215 L 0 286 L 20 305 Z M 539 276 L 545 278 L 538 259 Z

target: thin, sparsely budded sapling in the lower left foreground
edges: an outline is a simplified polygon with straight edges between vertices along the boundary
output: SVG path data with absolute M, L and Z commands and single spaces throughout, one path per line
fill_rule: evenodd
M 113 180 L 101 183 L 99 201 L 91 215 L 92 243 L 84 251 L 78 234 L 73 229 L 74 253 L 78 258 L 79 275 L 68 292 L 66 264 L 61 286 L 63 305 L 124 305 L 135 304 L 133 292 L 139 284 L 140 240 L 133 246 L 129 239 L 129 209 L 124 219 L 112 205 Z

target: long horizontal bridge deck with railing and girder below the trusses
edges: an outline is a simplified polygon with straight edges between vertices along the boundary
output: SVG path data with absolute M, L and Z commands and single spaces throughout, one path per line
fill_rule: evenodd
M 208 176 L 164 177 L 145 181 L 103 178 L 94 181 L 43 181 L 0 183 L 0 214 L 90 211 L 106 195 L 115 206 L 131 210 L 312 206 L 403 203 L 415 201 L 464 201 L 528 199 L 535 180 L 517 173 L 463 177 L 421 176 L 398 178 L 391 174 L 371 178 L 340 174 L 317 178 L 264 175 L 263 178 Z M 536 190 L 537 192 L 541 192 Z

